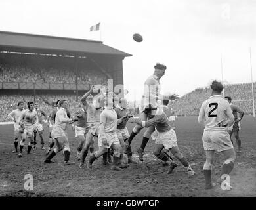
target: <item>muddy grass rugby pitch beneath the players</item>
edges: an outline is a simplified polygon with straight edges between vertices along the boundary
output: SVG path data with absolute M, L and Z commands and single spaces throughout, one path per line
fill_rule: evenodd
M 130 132 L 134 125 L 128 123 Z M 167 174 L 168 167 L 163 167 L 152 154 L 154 142 L 151 139 L 146 146 L 144 162 L 140 162 L 135 150 L 140 146 L 144 130 L 132 143 L 138 163 L 117 172 L 110 170 L 110 166 L 103 166 L 102 157 L 93 163 L 93 170 L 79 169 L 75 159 L 77 140 L 71 129 L 68 131 L 72 150 L 70 159 L 76 162 L 75 165 L 64 167 L 62 153 L 54 157 L 55 163 L 43 163 L 45 151 L 40 148 L 38 134 L 35 153 L 27 155 L 24 152 L 22 158 L 18 158 L 17 154 L 12 154 L 13 125 L 0 125 L 0 196 L 256 196 L 256 119 L 245 116 L 241 125 L 242 154 L 237 154 L 230 174 L 233 187 L 230 191 L 221 190 L 220 186 L 204 190 L 203 128 L 198 125 L 197 117 L 179 117 L 175 122 L 179 148 L 196 172 L 194 177 L 188 177 L 177 159 L 179 166 L 173 174 Z M 48 137 L 49 130 L 45 125 L 46 148 Z M 234 146 L 236 148 L 236 144 Z M 26 149 L 25 146 L 24 151 Z M 213 181 L 219 177 L 223 161 L 223 156 L 216 153 Z M 33 175 L 33 190 L 24 190 L 26 174 Z

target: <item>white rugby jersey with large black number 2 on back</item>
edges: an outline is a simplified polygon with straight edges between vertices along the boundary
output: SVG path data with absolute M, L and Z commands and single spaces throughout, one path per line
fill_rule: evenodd
M 205 124 L 204 131 L 224 130 L 220 123 L 224 120 L 234 121 L 230 104 L 222 95 L 214 95 L 205 100 L 200 108 L 198 122 Z

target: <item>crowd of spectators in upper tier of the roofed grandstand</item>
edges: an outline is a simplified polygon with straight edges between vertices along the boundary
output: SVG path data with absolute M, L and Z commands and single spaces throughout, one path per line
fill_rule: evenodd
M 106 75 L 94 70 L 79 70 L 77 83 L 102 84 L 107 81 Z M 26 64 L 0 64 L 0 82 L 20 83 L 75 83 L 74 70 L 70 68 L 39 68 Z

